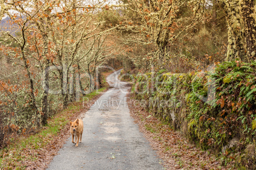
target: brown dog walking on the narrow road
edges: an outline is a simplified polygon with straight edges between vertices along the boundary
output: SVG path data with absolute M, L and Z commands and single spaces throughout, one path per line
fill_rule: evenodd
M 79 138 L 80 142 L 82 140 L 82 134 L 83 134 L 83 121 L 81 119 L 76 119 L 74 122 L 70 122 L 70 132 L 72 134 L 72 143 L 75 143 L 74 136 L 76 136 L 76 147 L 78 147 Z

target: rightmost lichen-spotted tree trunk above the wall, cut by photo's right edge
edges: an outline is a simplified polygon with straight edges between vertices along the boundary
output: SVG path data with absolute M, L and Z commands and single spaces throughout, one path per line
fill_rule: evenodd
M 246 41 L 246 55 L 248 60 L 256 60 L 256 30 L 255 30 L 255 18 L 253 15 L 254 1 L 242 0 L 241 1 L 241 13 L 245 22 L 245 41 Z

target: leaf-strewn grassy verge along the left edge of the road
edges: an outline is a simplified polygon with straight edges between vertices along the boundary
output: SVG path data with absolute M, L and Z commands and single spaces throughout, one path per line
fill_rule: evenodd
M 112 72 L 103 72 L 103 82 Z M 90 106 L 108 89 L 108 84 L 83 96 L 82 100 L 48 119 L 38 133 L 22 134 L 13 138 L 11 144 L 0 150 L 0 169 L 46 169 L 50 161 L 69 138 L 69 121 L 82 118 Z

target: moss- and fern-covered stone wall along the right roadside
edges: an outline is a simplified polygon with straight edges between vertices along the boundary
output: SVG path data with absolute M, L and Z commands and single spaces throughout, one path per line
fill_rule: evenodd
M 223 165 L 256 169 L 256 62 L 224 62 L 207 72 L 138 74 L 133 93 Z

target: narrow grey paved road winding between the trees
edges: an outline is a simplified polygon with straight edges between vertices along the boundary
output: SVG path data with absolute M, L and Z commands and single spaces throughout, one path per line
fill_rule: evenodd
M 107 77 L 113 88 L 85 113 L 82 143 L 75 147 L 70 137 L 48 169 L 164 169 L 130 117 L 125 97 L 130 87 L 118 74 Z

